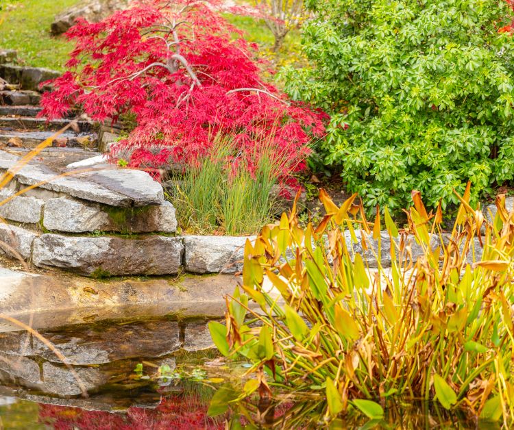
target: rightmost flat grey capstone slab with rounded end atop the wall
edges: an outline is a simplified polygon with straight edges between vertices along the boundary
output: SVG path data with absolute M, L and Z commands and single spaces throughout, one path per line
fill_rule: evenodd
M 97 170 L 79 175 L 130 197 L 134 206 L 159 205 L 164 201 L 162 186 L 142 170 L 119 168 L 112 170 Z

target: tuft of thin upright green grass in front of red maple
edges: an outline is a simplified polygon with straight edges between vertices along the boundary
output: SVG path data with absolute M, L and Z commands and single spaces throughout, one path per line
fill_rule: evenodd
M 189 231 L 232 235 L 256 233 L 273 220 L 282 164 L 280 156 L 260 147 L 252 160 L 234 157 L 230 138 L 219 141 L 210 155 L 176 177 L 171 199 L 180 225 Z M 257 145 L 256 145 L 257 146 Z

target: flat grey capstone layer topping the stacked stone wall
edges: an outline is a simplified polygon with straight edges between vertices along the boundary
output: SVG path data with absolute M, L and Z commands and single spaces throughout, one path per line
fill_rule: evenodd
M 12 170 L 21 158 L 0 151 L 0 169 Z M 162 186 L 141 170 L 106 167 L 62 177 L 46 166 L 31 162 L 16 168 L 14 178 L 22 185 L 52 190 L 71 197 L 117 207 L 160 205 L 164 201 Z

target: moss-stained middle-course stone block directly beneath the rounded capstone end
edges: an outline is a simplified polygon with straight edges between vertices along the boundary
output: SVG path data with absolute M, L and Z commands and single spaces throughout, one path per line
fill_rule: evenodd
M 158 206 L 117 208 L 72 199 L 50 199 L 43 219 L 46 229 L 67 233 L 174 233 L 177 229 L 175 207 L 168 201 Z

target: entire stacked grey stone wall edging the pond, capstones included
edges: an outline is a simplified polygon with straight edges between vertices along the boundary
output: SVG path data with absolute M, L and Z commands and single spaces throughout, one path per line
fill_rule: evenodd
M 0 172 L 14 174 L 8 189 L 0 190 L 0 252 L 22 257 L 40 268 L 61 268 L 90 277 L 236 273 L 241 270 L 247 237 L 180 236 L 175 208 L 164 200 L 162 186 L 140 170 L 103 166 L 79 175 L 58 177 L 47 167 L 17 168 L 19 157 L 0 151 Z M 32 190 L 14 197 L 27 186 Z M 357 235 L 359 232 L 357 232 Z M 254 237 L 250 238 L 253 239 Z M 389 249 L 382 232 L 382 249 Z M 422 250 L 412 237 L 413 260 Z M 434 247 L 439 238 L 434 238 Z M 376 267 L 378 242 L 369 249 L 347 246 Z M 436 243 L 437 242 L 437 243 Z M 476 240 L 476 257 L 481 247 Z M 389 252 L 382 266 L 391 266 Z

